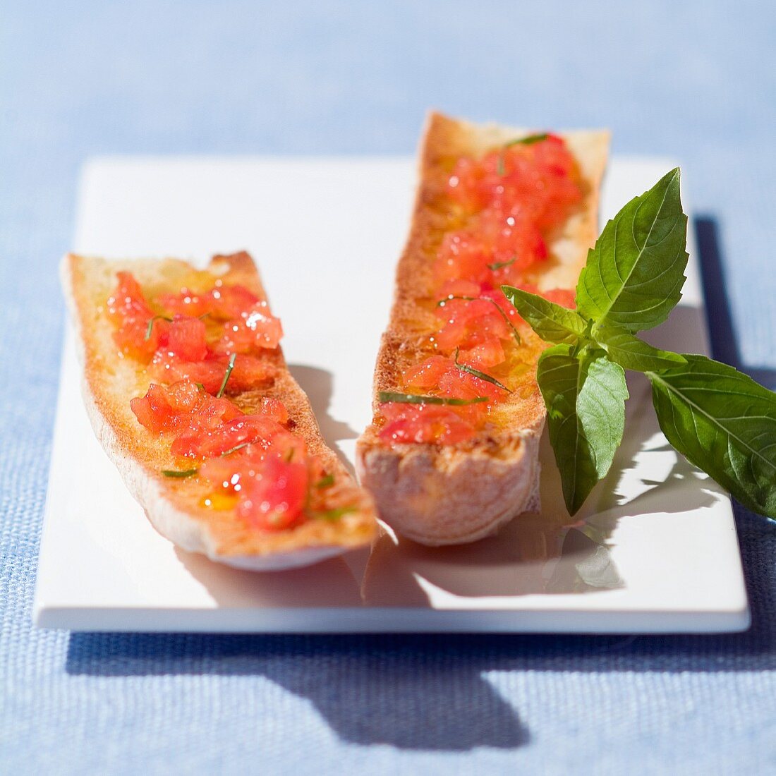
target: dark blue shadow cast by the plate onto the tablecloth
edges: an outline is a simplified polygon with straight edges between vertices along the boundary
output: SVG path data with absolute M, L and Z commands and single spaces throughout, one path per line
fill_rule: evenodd
M 713 220 L 696 221 L 712 349 L 746 369 L 733 339 Z M 776 523 L 736 505 L 752 609 L 746 633 L 713 636 L 206 636 L 73 633 L 66 669 L 98 677 L 255 675 L 317 712 L 342 740 L 411 750 L 512 749 L 530 740 L 519 698 L 490 672 L 736 672 L 776 668 Z

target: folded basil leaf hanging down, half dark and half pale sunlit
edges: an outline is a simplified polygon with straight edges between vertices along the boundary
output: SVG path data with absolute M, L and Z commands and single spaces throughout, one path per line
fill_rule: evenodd
M 539 359 L 549 441 L 569 514 L 605 476 L 625 429 L 628 388 L 622 366 L 598 349 L 555 345 Z

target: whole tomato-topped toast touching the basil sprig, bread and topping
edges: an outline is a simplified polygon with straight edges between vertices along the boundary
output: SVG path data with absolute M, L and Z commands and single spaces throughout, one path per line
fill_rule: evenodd
M 501 286 L 573 306 L 607 153 L 606 131 L 429 117 L 356 452 L 380 517 L 407 538 L 471 542 L 539 509 L 545 345 Z

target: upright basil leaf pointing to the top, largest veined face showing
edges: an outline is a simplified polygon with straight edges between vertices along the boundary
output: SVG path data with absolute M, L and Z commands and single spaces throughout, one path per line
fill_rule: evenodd
M 686 237 L 676 168 L 606 224 L 580 274 L 578 312 L 627 331 L 662 323 L 681 298 Z

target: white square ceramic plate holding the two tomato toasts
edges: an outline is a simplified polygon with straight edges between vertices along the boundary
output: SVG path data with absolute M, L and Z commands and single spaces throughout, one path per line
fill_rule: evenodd
M 615 159 L 603 215 L 673 163 Z M 404 158 L 102 158 L 82 175 L 74 248 L 204 262 L 247 249 L 286 331 L 286 358 L 331 445 L 352 461 L 407 230 Z M 691 245 L 684 300 L 653 341 L 703 352 Z M 747 628 L 729 498 L 667 445 L 646 380 L 625 443 L 580 520 L 544 444 L 541 516 L 472 546 L 384 535 L 368 553 L 249 573 L 154 532 L 92 435 L 68 328 L 35 621 L 48 628 L 248 632 L 711 632 Z

